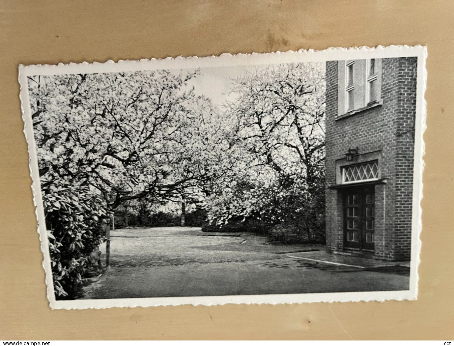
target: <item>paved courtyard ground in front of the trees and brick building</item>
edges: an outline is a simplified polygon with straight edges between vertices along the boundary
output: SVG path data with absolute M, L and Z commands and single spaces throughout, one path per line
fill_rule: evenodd
M 295 258 L 322 254 L 321 245 L 276 245 L 262 236 L 197 227 L 111 235 L 112 269 L 89 282 L 84 299 L 394 291 L 409 285 L 408 268 L 365 270 Z

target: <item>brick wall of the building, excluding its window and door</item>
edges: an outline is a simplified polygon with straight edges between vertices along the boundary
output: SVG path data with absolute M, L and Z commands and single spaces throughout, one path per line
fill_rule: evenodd
M 383 104 L 338 119 L 338 62 L 326 62 L 326 185 L 336 184 L 336 160 L 348 148 L 380 153 L 381 178 L 375 186 L 375 257 L 410 257 L 416 58 L 382 59 Z M 360 158 L 359 158 L 360 160 Z M 340 190 L 326 190 L 326 240 L 329 251 L 342 251 Z

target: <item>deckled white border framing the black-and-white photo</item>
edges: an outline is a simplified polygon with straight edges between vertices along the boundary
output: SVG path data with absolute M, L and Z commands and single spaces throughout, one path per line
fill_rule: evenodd
M 249 295 L 249 296 L 211 296 L 211 297 L 164 297 L 164 298 L 125 298 L 125 299 L 87 299 L 74 301 L 57 301 L 54 297 L 52 270 L 50 267 L 49 243 L 46 236 L 44 208 L 42 203 L 41 187 L 39 182 L 38 160 L 35 150 L 33 134 L 33 121 L 27 87 L 27 76 L 79 74 L 79 73 L 105 73 L 154 69 L 191 69 L 215 66 L 242 66 L 257 64 L 280 64 L 291 62 L 316 62 L 347 59 L 370 59 L 417 56 L 417 98 L 415 120 L 415 158 L 413 177 L 413 209 L 412 209 L 412 237 L 411 237 L 411 262 L 410 262 L 410 290 L 408 291 L 382 291 L 382 292 L 341 292 L 341 293 L 301 293 L 277 295 Z M 418 46 L 378 46 L 376 48 L 328 48 L 322 51 L 299 50 L 265 54 L 222 54 L 218 57 L 204 58 L 189 57 L 166 59 L 141 59 L 119 60 L 115 63 L 108 60 L 104 63 L 58 64 L 58 65 L 19 65 L 20 100 L 22 119 L 24 120 L 24 133 L 28 143 L 30 155 L 30 176 L 33 179 L 32 192 L 35 203 L 35 212 L 38 221 L 38 233 L 41 242 L 41 251 L 44 260 L 45 280 L 47 284 L 47 297 L 52 309 L 86 309 L 108 307 L 135 307 L 135 306 L 166 306 L 166 305 L 219 305 L 227 303 L 246 304 L 281 304 L 305 302 L 359 302 L 359 301 L 385 301 L 385 300 L 413 300 L 418 294 L 418 265 L 421 241 L 419 238 L 421 222 L 422 173 L 424 170 L 424 141 L 423 133 L 426 129 L 426 102 L 424 93 L 426 88 L 427 71 L 425 59 L 427 48 Z

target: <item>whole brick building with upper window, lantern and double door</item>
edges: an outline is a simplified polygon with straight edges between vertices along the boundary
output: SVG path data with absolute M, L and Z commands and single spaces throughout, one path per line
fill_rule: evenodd
M 328 251 L 409 260 L 416 57 L 326 62 Z

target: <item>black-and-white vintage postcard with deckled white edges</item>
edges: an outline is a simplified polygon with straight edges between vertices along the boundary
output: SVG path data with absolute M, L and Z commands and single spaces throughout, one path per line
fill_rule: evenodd
M 21 65 L 50 306 L 416 299 L 425 58 Z

